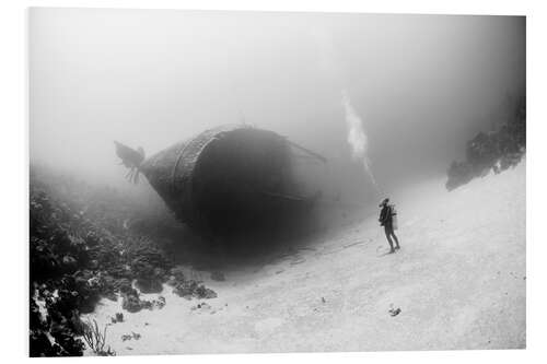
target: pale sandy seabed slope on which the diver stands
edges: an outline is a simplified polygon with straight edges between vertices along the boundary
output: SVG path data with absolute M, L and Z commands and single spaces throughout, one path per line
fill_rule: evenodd
M 257 272 L 206 281 L 218 293 L 208 306 L 166 287 L 162 310 L 125 313 L 108 344 L 118 354 L 524 348 L 525 162 L 394 202 L 395 255 L 372 216 Z M 119 310 L 105 302 L 93 317 Z M 121 341 L 131 331 L 140 339 Z

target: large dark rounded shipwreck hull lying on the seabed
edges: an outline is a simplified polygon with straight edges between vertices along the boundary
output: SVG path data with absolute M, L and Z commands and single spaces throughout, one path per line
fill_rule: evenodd
M 271 232 L 313 202 L 294 193 L 290 142 L 244 126 L 203 131 L 139 171 L 179 221 L 205 235 Z

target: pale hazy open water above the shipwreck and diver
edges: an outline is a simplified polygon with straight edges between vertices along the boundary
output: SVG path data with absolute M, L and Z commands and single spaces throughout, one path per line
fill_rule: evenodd
M 31 163 L 124 180 L 147 156 L 247 124 L 327 157 L 342 199 L 439 176 L 525 87 L 522 16 L 30 10 Z

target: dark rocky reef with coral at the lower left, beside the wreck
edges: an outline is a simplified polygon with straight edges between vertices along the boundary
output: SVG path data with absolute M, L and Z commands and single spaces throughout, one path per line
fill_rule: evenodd
M 138 210 L 115 189 L 31 167 L 31 356 L 82 355 L 80 316 L 92 313 L 102 298 L 121 297 L 129 313 L 162 308 L 165 298 L 146 301 L 140 293 L 162 292 L 173 272 L 182 296 L 216 296 L 176 274 L 175 262 L 155 243 L 164 237 L 127 226 Z

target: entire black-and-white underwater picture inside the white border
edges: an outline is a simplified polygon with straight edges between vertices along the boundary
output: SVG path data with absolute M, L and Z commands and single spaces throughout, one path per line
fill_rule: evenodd
M 28 12 L 31 356 L 526 348 L 524 16 Z

